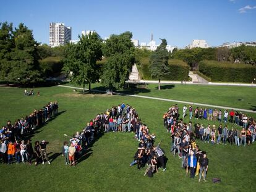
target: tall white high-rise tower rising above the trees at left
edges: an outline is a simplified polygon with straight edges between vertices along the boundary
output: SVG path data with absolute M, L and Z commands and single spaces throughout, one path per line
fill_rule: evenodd
M 61 46 L 70 40 L 71 27 L 66 27 L 64 23 L 49 23 L 49 46 Z

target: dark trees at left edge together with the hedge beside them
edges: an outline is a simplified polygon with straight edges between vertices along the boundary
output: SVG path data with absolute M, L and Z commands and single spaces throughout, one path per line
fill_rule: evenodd
M 0 80 L 31 84 L 61 73 L 66 46 L 39 44 L 23 23 L 0 23 Z

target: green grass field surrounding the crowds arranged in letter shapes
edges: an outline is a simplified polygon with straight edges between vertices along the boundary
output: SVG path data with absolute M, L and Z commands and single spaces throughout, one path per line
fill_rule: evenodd
M 255 105 L 255 90 L 250 89 L 226 90 L 223 87 L 204 86 L 198 87 L 198 91 L 186 89 L 175 85 L 174 88 L 160 92 L 155 90 L 156 85 L 150 85 L 150 96 L 163 98 L 176 98 L 180 100 L 192 99 L 198 102 L 221 104 L 231 107 L 249 109 Z M 182 86 L 182 85 L 181 85 Z M 0 165 L 1 182 L 0 191 L 254 191 L 256 184 L 255 164 L 256 146 L 211 146 L 198 142 L 201 149 L 207 151 L 209 169 L 207 183 L 198 183 L 198 180 L 186 177 L 182 170 L 181 161 L 169 153 L 171 140 L 169 134 L 163 128 L 163 113 L 173 104 L 166 101 L 155 101 L 142 98 L 130 98 L 128 96 L 106 96 L 105 94 L 79 94 L 72 93 L 72 89 L 61 87 L 35 88 L 40 90 L 41 96 L 23 96 L 23 89 L 0 88 L 0 123 L 7 120 L 20 118 L 43 107 L 46 102 L 59 102 L 60 114 L 45 126 L 36 131 L 32 141 L 49 141 L 48 152 L 51 157 L 51 165 L 12 164 Z M 182 91 L 183 90 L 183 91 Z M 204 90 L 204 91 L 202 91 Z M 224 97 L 226 93 L 233 96 Z M 218 94 L 217 98 L 210 97 L 210 93 Z M 189 94 L 190 93 L 190 94 Z M 180 95 L 179 95 L 180 94 Z M 193 98 L 193 96 L 198 96 Z M 221 99 L 221 96 L 224 98 Z M 240 98 L 239 102 L 230 101 L 230 98 Z M 202 98 L 205 98 L 202 100 Z M 225 102 L 226 101 L 226 102 Z M 160 171 L 153 178 L 143 177 L 143 171 L 137 167 L 129 167 L 137 148 L 137 141 L 132 133 L 106 133 L 96 140 L 87 155 L 76 167 L 68 167 L 61 156 L 63 141 L 67 140 L 64 133 L 72 135 L 77 130 L 82 130 L 90 119 L 99 112 L 103 112 L 113 105 L 121 102 L 134 106 L 140 118 L 150 127 L 151 133 L 156 134 L 156 142 L 163 140 L 161 145 L 168 157 L 166 172 Z M 251 104 L 245 104 L 250 102 Z M 180 104 L 182 106 L 182 104 Z M 255 114 L 249 114 L 256 117 Z M 189 120 L 185 119 L 185 122 Z M 205 120 L 197 120 L 203 124 Z M 195 121 L 193 122 L 195 123 Z M 214 122 L 211 122 L 211 124 Z M 228 127 L 231 125 L 228 123 Z M 222 182 L 213 184 L 211 178 L 219 177 Z

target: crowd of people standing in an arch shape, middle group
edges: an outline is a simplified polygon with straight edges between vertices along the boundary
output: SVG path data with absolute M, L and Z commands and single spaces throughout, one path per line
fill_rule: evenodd
M 66 165 L 77 164 L 83 150 L 86 150 L 96 135 L 106 132 L 133 132 L 134 138 L 139 142 L 139 147 L 130 166 L 137 164 L 137 168 L 148 166 L 145 175 L 150 177 L 158 172 L 158 167 L 166 170 L 164 152 L 158 146 L 154 146 L 155 135 L 150 134 L 147 125 L 143 124 L 136 110 L 129 104 L 119 104 L 108 109 L 105 113 L 97 114 L 95 119 L 90 120 L 82 131 L 77 133 L 62 146 L 62 156 L 65 157 Z

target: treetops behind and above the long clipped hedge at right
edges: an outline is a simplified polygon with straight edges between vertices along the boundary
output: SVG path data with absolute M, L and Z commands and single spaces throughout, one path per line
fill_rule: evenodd
M 174 49 L 169 54 L 171 59 L 181 59 L 197 70 L 198 62 L 203 60 L 229 61 L 233 63 L 256 64 L 256 47 L 245 46 L 244 44 L 237 48 L 192 48 L 192 49 Z

